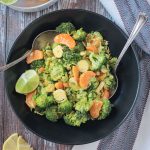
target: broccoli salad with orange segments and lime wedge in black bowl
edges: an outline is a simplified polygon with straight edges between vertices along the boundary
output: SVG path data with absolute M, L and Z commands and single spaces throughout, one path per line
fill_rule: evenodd
M 53 43 L 33 50 L 30 66 L 18 79 L 16 92 L 25 103 L 49 121 L 63 119 L 70 126 L 105 119 L 111 112 L 109 100 L 116 86 L 112 57 L 100 32 L 87 33 L 70 22 L 56 27 Z

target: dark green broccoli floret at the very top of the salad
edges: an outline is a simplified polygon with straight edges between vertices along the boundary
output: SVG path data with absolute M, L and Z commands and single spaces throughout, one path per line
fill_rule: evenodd
M 71 22 L 63 22 L 56 27 L 56 32 L 59 33 L 70 33 L 75 30 L 75 26 Z

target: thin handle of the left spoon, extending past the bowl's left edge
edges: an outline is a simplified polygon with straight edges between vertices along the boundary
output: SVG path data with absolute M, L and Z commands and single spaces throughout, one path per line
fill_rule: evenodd
M 24 60 L 32 51 L 31 50 L 28 50 L 22 57 L 16 59 L 15 61 L 7 64 L 7 65 L 4 65 L 2 67 L 0 67 L 0 72 L 2 71 L 5 71 L 9 68 L 11 68 L 12 66 L 16 65 L 17 63 L 21 62 L 22 60 Z

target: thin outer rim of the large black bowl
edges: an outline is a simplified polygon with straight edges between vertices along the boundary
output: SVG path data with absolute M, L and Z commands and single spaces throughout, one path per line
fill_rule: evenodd
M 107 20 L 107 21 L 109 21 L 113 26 L 115 26 L 121 33 L 122 33 L 122 35 L 127 39 L 127 35 L 122 31 L 122 29 L 118 26 L 118 25 L 116 25 L 114 22 L 112 22 L 111 20 L 109 20 L 109 19 L 107 19 L 106 17 L 104 17 L 104 16 L 102 16 L 102 15 L 100 15 L 100 14 L 98 14 L 98 13 L 95 13 L 95 12 L 92 12 L 92 11 L 89 11 L 89 10 L 84 10 L 84 9 L 62 9 L 62 10 L 56 10 L 56 11 L 53 11 L 53 12 L 49 12 L 49 13 L 47 13 L 47 14 L 45 14 L 45 15 L 42 15 L 42 16 L 40 16 L 39 18 L 37 18 L 37 19 L 35 19 L 34 21 L 32 21 L 29 25 L 27 25 L 26 27 L 25 27 L 25 29 L 19 34 L 19 36 L 16 38 L 16 40 L 15 40 L 15 42 L 14 42 L 14 44 L 12 45 L 12 47 L 11 47 L 11 49 L 10 49 L 10 52 L 9 52 L 9 54 L 8 54 L 8 57 L 7 57 L 7 63 L 8 63 L 8 61 L 9 61 L 9 59 L 10 59 L 10 56 L 11 56 L 11 54 L 12 54 L 12 52 L 13 52 L 13 47 L 14 47 L 14 45 L 16 45 L 16 42 L 17 42 L 17 40 L 20 38 L 20 36 L 24 33 L 24 32 L 26 32 L 26 30 L 27 30 L 27 28 L 30 26 L 30 25 L 32 25 L 35 21 L 38 21 L 38 20 L 40 20 L 43 16 L 47 16 L 47 15 L 50 15 L 50 14 L 53 14 L 53 13 L 57 13 L 57 12 L 63 12 L 63 11 L 81 11 L 81 12 L 87 12 L 87 13 L 91 13 L 91 14 L 94 14 L 94 15 L 97 15 L 97 16 L 100 16 L 101 18 L 103 18 L 103 19 L 105 19 L 105 20 Z M 133 52 L 134 52 L 134 55 L 135 55 L 135 59 L 136 59 L 136 62 L 137 62 L 137 69 L 138 69 L 138 87 L 137 87 L 137 92 L 136 92 L 136 95 L 135 95 L 135 99 L 134 99 L 134 101 L 133 101 L 133 104 L 132 104 L 132 106 L 131 106 L 131 108 L 130 108 L 130 110 L 128 111 L 128 113 L 126 114 L 126 116 L 122 119 L 122 121 L 117 125 L 117 126 L 115 126 L 113 129 L 112 129 L 112 131 L 107 135 L 107 136 L 109 136 L 109 135 L 111 135 L 117 128 L 119 128 L 122 124 L 123 124 L 123 122 L 127 119 L 127 117 L 130 115 L 130 113 L 131 113 L 131 111 L 133 110 L 133 107 L 135 106 L 135 103 L 136 103 L 136 101 L 137 101 L 137 97 L 138 97 L 138 93 L 139 93 L 139 87 L 140 87 L 140 85 L 141 85 L 141 73 L 140 73 L 140 66 L 139 66 L 139 58 L 138 58 L 138 54 L 137 54 L 137 52 L 134 50 L 134 48 L 133 48 L 133 46 L 131 45 L 131 48 L 132 48 L 132 50 L 133 50 Z M 4 73 L 4 76 L 5 76 L 5 73 Z M 4 83 L 6 82 L 6 78 L 4 78 Z M 7 93 L 7 88 L 6 88 L 6 93 Z M 7 94 L 7 96 L 8 96 L 8 94 Z M 93 139 L 93 140 L 91 140 L 90 142 L 78 142 L 78 143 L 63 143 L 63 142 L 60 142 L 60 141 L 56 141 L 56 140 L 53 140 L 53 139 L 51 139 L 51 138 L 46 138 L 46 137 L 44 137 L 44 136 L 41 136 L 40 134 L 38 134 L 38 133 L 36 133 L 34 130 L 32 130 L 30 127 L 28 127 L 27 125 L 25 125 L 24 124 L 24 122 L 22 121 L 22 118 L 20 118 L 19 117 L 19 115 L 16 113 L 16 111 L 15 111 L 15 109 L 14 109 L 14 107 L 12 107 L 12 102 L 11 102 L 11 100 L 10 100 L 11 98 L 8 96 L 8 100 L 9 100 L 9 102 L 10 102 L 10 104 L 11 104 L 11 108 L 13 109 L 13 111 L 15 112 L 15 114 L 16 114 L 16 116 L 19 118 L 19 120 L 23 123 L 23 125 L 27 128 L 27 129 L 29 129 L 32 133 L 34 133 L 34 134 L 36 134 L 37 136 L 39 136 L 39 137 L 41 137 L 41 138 L 43 138 L 43 139 L 46 139 L 46 140 L 48 140 L 48 141 L 50 141 L 50 142 L 56 142 L 56 143 L 59 143 L 59 144 L 67 144 L 67 145 L 81 145 L 81 144 L 88 144 L 88 143 L 92 143 L 92 142 L 95 142 L 95 141 L 98 141 L 98 140 L 100 140 L 99 138 L 95 138 L 95 139 Z M 107 137 L 107 136 L 104 136 L 104 137 Z M 102 138 L 104 138 L 104 137 L 102 137 Z M 101 138 L 101 139 L 102 139 Z

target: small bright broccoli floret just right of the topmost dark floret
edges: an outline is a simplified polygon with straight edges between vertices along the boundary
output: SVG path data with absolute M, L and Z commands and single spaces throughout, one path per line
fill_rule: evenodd
M 77 41 L 83 41 L 86 38 L 86 32 L 83 31 L 83 28 L 80 28 L 73 33 L 73 38 Z

